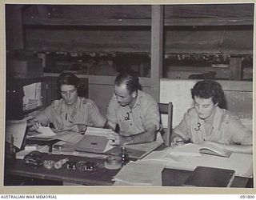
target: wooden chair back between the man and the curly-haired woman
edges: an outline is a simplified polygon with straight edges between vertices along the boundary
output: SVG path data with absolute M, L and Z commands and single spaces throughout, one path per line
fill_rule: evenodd
M 162 130 L 162 139 L 166 146 L 170 146 L 170 136 L 172 134 L 173 104 L 158 103 L 160 114 L 168 114 L 167 128 Z

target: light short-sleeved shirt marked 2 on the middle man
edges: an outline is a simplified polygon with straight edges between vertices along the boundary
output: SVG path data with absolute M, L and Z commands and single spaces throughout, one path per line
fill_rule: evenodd
M 126 136 L 145 132 L 147 126 L 154 124 L 159 130 L 158 103 L 150 94 L 138 90 L 137 100 L 132 108 L 120 106 L 115 95 L 107 107 L 107 120 L 119 125 L 121 132 Z

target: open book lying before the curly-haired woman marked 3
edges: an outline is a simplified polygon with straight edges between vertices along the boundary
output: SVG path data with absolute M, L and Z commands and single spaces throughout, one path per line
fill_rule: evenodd
M 173 150 L 170 150 L 170 155 L 174 156 L 194 156 L 201 157 L 202 154 L 212 154 L 221 157 L 229 158 L 231 151 L 224 150 L 215 146 L 212 143 L 205 142 L 202 145 L 198 144 L 184 144 L 181 146 L 175 147 Z

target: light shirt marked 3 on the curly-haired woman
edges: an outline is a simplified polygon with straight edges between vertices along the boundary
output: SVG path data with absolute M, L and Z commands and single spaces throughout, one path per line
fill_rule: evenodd
M 191 108 L 184 114 L 182 122 L 174 128 L 173 132 L 198 144 L 204 141 L 227 145 L 251 145 L 253 143 L 252 131 L 243 126 L 240 119 L 230 114 L 228 110 L 216 107 L 214 121 L 208 133 L 203 124 L 202 119 L 198 118 L 195 108 Z

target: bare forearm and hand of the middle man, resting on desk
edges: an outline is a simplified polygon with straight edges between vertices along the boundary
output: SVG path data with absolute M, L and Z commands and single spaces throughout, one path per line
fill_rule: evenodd
M 122 133 L 113 133 L 110 134 L 108 139 L 113 141 L 112 145 L 119 146 L 127 144 L 146 143 L 155 141 L 157 132 L 157 126 L 152 123 L 147 126 L 147 130 L 145 132 L 130 136 L 122 136 Z

